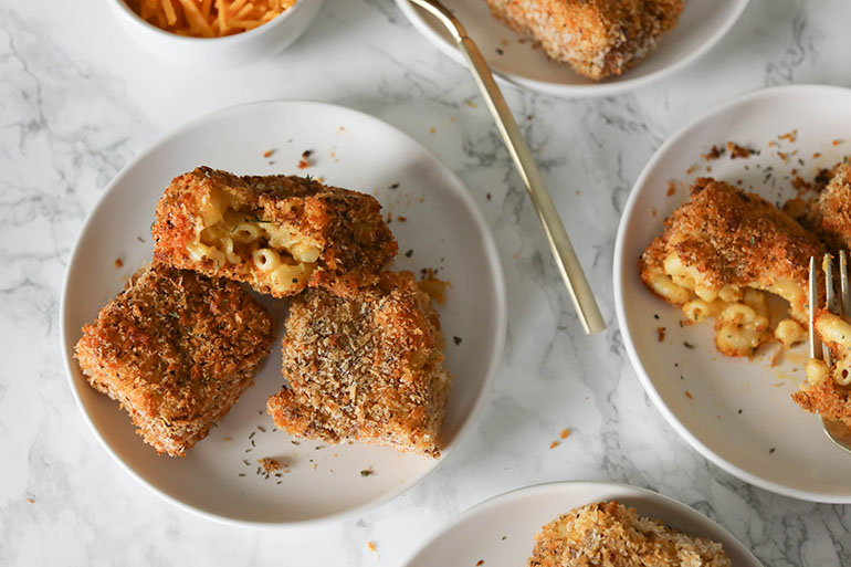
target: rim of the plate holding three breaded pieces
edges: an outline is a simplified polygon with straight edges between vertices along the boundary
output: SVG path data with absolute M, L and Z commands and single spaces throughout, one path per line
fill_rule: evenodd
M 442 169 L 442 175 L 445 175 L 453 185 L 456 185 L 459 187 L 460 190 L 453 191 L 453 195 L 459 197 L 464 202 L 464 204 L 466 206 L 467 210 L 471 213 L 472 221 L 476 225 L 479 225 L 480 230 L 482 231 L 482 237 L 483 237 L 482 240 L 484 243 L 485 254 L 488 258 L 488 263 L 491 264 L 494 271 L 493 282 L 494 282 L 494 292 L 496 294 L 496 304 L 495 304 L 496 342 L 494 344 L 494 349 L 491 355 L 491 359 L 488 360 L 485 367 L 485 375 L 484 375 L 484 382 L 482 385 L 482 391 L 479 395 L 475 402 L 473 403 L 473 407 L 469 411 L 464 423 L 461 426 L 458 433 L 455 434 L 455 438 L 452 441 L 452 445 L 449 448 L 450 450 L 441 451 L 442 453 L 441 458 L 438 460 L 438 462 L 434 464 L 434 466 L 431 470 L 429 470 L 426 474 L 423 474 L 421 477 L 417 479 L 416 481 L 403 484 L 401 489 L 392 490 L 387 494 L 381 495 L 378 498 L 375 498 L 370 502 L 364 503 L 361 505 L 358 505 L 342 512 L 336 512 L 334 514 L 329 514 L 329 515 L 321 516 L 316 518 L 290 521 L 290 522 L 242 519 L 242 518 L 224 516 L 221 514 L 216 514 L 207 510 L 195 507 L 170 494 L 167 494 L 164 491 L 160 491 L 153 484 L 148 483 L 128 463 L 126 463 L 106 442 L 104 437 L 101 434 L 97 426 L 92 420 L 92 417 L 90 416 L 88 411 L 86 411 L 83 405 L 83 401 L 81 399 L 80 392 L 77 391 L 77 387 L 75 384 L 75 377 L 74 377 L 75 361 L 73 359 L 72 349 L 69 346 L 70 345 L 69 343 L 70 337 L 67 333 L 69 322 L 66 321 L 66 317 L 65 317 L 66 306 L 69 302 L 67 290 L 69 290 L 69 283 L 71 280 L 72 266 L 77 262 L 77 258 L 82 254 L 81 242 L 82 242 L 83 235 L 87 233 L 88 230 L 91 230 L 91 224 L 93 222 L 93 219 L 97 216 L 97 213 L 104 207 L 104 203 L 109 197 L 109 195 L 113 193 L 113 191 L 115 191 L 115 188 L 119 186 L 119 183 L 124 180 L 124 178 L 127 176 L 130 169 L 133 169 L 138 162 L 147 159 L 150 154 L 156 151 L 164 144 L 167 144 L 171 139 L 178 136 L 181 136 L 187 130 L 191 130 L 192 128 L 196 128 L 204 123 L 208 123 L 209 120 L 214 120 L 223 116 L 227 116 L 229 114 L 239 114 L 241 112 L 246 112 L 254 107 L 279 106 L 279 105 L 308 105 L 308 106 L 315 106 L 317 108 L 324 108 L 325 111 L 353 114 L 357 116 L 359 119 L 366 119 L 367 122 L 370 122 L 372 124 L 377 124 L 379 126 L 389 128 L 390 130 L 395 132 L 397 135 L 402 136 L 403 138 L 408 139 L 411 144 L 413 144 L 414 147 L 417 147 L 424 157 L 427 157 L 429 160 L 433 161 L 434 164 L 439 165 L 440 168 Z M 485 405 L 490 399 L 490 395 L 493 390 L 493 386 L 496 379 L 496 372 L 505 355 L 505 342 L 507 337 L 507 308 L 508 307 L 507 307 L 505 273 L 503 270 L 500 251 L 496 246 L 496 241 L 494 240 L 494 235 L 491 230 L 491 227 L 487 224 L 484 213 L 479 208 L 479 204 L 473 199 L 466 183 L 464 183 L 461 180 L 461 178 L 452 169 L 449 168 L 449 166 L 443 164 L 443 161 L 440 160 L 431 150 L 429 150 L 426 146 L 423 146 L 420 141 L 414 139 L 412 136 L 410 136 L 406 132 L 402 132 L 396 126 L 376 116 L 372 116 L 371 114 L 368 114 L 355 108 L 350 108 L 348 106 L 325 103 L 325 102 L 306 101 L 301 98 L 292 98 L 292 99 L 291 98 L 271 98 L 265 101 L 255 101 L 255 102 L 239 104 L 234 106 L 229 106 L 225 108 L 220 108 L 220 109 L 210 112 L 208 114 L 198 116 L 182 124 L 181 126 L 178 126 L 177 128 L 168 130 L 165 134 L 157 137 L 153 143 L 147 145 L 141 151 L 136 154 L 129 161 L 127 161 L 127 164 L 125 164 L 115 174 L 112 180 L 106 185 L 106 187 L 103 189 L 101 195 L 97 197 L 95 204 L 92 207 L 90 212 L 86 214 L 85 220 L 80 225 L 80 229 L 74 238 L 74 245 L 72 246 L 67 255 L 67 264 L 65 266 L 65 273 L 62 279 L 62 292 L 60 294 L 60 305 L 59 305 L 59 326 L 60 326 L 60 343 L 61 343 L 60 346 L 62 349 L 63 365 L 65 368 L 65 377 L 66 377 L 69 387 L 71 389 L 72 396 L 74 398 L 74 401 L 76 403 L 78 413 L 82 414 L 84 421 L 88 424 L 90 430 L 94 434 L 95 439 L 97 439 L 101 447 L 107 452 L 107 454 L 112 456 L 113 461 L 117 463 L 120 466 L 120 469 L 123 469 L 126 473 L 128 473 L 133 479 L 135 479 L 138 483 L 145 486 L 148 491 L 153 492 L 154 494 L 165 500 L 166 502 L 175 505 L 176 507 L 182 511 L 189 512 L 191 514 L 195 514 L 197 516 L 214 521 L 220 524 L 240 526 L 240 527 L 250 527 L 250 528 L 261 528 L 261 529 L 263 528 L 286 529 L 286 528 L 298 528 L 298 527 L 305 527 L 305 526 L 317 526 L 317 525 L 339 522 L 342 519 L 350 518 L 358 514 L 364 514 L 368 511 L 376 510 L 379 506 L 387 504 L 388 502 L 401 496 L 402 494 L 411 490 L 413 486 L 417 486 L 418 484 L 420 484 L 428 476 L 433 474 L 434 471 L 440 469 L 441 465 L 448 459 L 448 456 L 454 452 L 452 451 L 452 448 L 461 444 L 464 438 L 471 434 L 471 431 L 474 429 L 475 423 L 477 422 L 482 411 L 484 410 Z

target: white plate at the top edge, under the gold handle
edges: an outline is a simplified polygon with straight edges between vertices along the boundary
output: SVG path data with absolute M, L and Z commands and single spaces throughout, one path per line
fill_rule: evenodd
M 409 0 L 399 9 L 438 49 L 465 65 L 449 33 L 431 14 Z M 707 52 L 733 27 L 747 0 L 686 0 L 680 21 L 662 35 L 647 59 L 621 76 L 601 82 L 584 77 L 567 63 L 547 57 L 535 42 L 525 40 L 493 17 L 485 0 L 442 0 L 476 42 L 494 74 L 508 83 L 556 96 L 610 96 L 631 91 L 674 73 Z

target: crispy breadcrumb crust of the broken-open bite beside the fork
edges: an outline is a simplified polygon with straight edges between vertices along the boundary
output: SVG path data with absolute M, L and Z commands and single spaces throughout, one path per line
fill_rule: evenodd
M 682 302 L 659 294 L 653 280 L 665 273 L 666 260 L 676 259 L 697 295 L 713 297 L 727 286 L 776 293 L 789 302 L 790 315 L 806 323 L 809 260 L 822 252 L 818 239 L 758 195 L 700 178 L 639 267 L 648 287 L 671 303 Z

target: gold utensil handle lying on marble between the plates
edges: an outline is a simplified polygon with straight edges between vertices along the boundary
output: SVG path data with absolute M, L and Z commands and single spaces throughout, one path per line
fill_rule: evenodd
M 514 165 L 529 192 L 532 203 L 538 212 L 538 218 L 544 225 L 544 232 L 549 241 L 549 248 L 553 251 L 556 265 L 570 294 L 570 300 L 579 315 L 582 328 L 587 335 L 600 333 L 606 329 L 606 322 L 600 314 L 600 308 L 593 297 L 591 287 L 588 285 L 582 266 L 579 264 L 576 251 L 570 243 L 565 225 L 553 202 L 553 198 L 549 196 L 546 182 L 535 164 L 532 151 L 512 115 L 511 108 L 508 108 L 508 104 L 496 85 L 496 81 L 494 81 L 491 70 L 484 56 L 482 56 L 482 52 L 479 51 L 475 42 L 467 36 L 466 30 L 464 30 L 461 22 L 440 2 L 435 0 L 411 1 L 424 8 L 440 20 L 450 31 L 455 44 L 470 63 L 470 70 L 473 73 L 476 85 L 487 103 L 487 108 L 496 122 L 503 141 L 508 148 Z

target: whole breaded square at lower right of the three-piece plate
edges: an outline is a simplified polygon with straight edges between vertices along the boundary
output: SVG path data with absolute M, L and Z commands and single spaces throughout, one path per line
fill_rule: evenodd
M 290 304 L 288 386 L 269 413 L 293 435 L 437 458 L 450 384 L 442 348 L 438 314 L 410 272 L 386 272 L 354 297 L 308 290 Z

